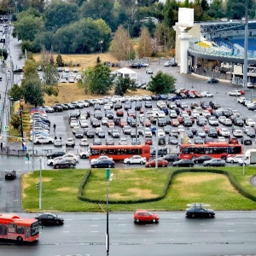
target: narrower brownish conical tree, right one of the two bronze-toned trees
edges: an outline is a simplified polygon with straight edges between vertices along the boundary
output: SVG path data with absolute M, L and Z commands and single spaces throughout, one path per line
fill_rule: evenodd
M 150 57 L 152 52 L 152 39 L 150 38 L 148 28 L 144 26 L 137 47 L 137 55 L 139 58 Z

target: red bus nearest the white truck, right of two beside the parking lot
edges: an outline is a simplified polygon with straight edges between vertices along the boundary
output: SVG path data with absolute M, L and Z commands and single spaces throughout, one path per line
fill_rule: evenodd
M 180 146 L 181 159 L 191 160 L 204 154 L 225 160 L 228 155 L 242 154 L 242 146 L 229 143 L 182 144 Z

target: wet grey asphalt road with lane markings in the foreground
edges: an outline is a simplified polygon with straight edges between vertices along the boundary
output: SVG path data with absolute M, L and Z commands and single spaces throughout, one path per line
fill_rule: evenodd
M 133 212 L 110 212 L 109 255 L 212 256 L 256 252 L 255 212 L 216 212 L 216 218 L 212 219 L 185 218 L 184 212 L 158 214 L 159 224 L 134 224 Z M 20 247 L 0 241 L 1 256 L 15 253 L 21 256 L 106 255 L 105 214 L 64 213 L 61 216 L 65 224 L 40 228 L 37 244 Z

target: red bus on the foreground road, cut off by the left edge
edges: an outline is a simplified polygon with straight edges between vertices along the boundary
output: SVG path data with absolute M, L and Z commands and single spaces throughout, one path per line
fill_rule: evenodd
M 36 241 L 39 222 L 35 218 L 20 218 L 11 213 L 0 213 L 0 239 Z

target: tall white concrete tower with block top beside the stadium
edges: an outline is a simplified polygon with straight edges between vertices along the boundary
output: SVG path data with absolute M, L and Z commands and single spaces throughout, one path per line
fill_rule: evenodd
M 189 30 L 194 25 L 194 9 L 180 8 L 178 9 L 178 23 L 181 34 L 180 38 L 180 73 L 188 73 L 189 71 Z

